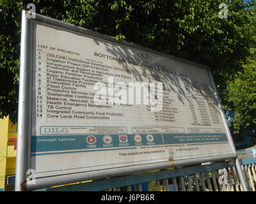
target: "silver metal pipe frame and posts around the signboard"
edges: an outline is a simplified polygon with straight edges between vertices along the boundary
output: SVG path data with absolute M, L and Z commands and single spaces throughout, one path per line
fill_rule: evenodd
M 142 171 L 150 171 L 150 170 L 160 170 L 171 168 L 173 166 L 186 166 L 191 164 L 199 164 L 205 162 L 215 162 L 215 161 L 223 161 L 225 159 L 236 159 L 236 148 L 234 146 L 234 142 L 232 140 L 232 136 L 227 126 L 227 122 L 225 120 L 225 115 L 223 113 L 223 109 L 221 107 L 220 98 L 218 96 L 218 92 L 216 86 L 214 84 L 214 80 L 211 74 L 211 69 L 202 64 L 198 64 L 195 62 L 187 61 L 184 59 L 180 59 L 178 57 L 174 57 L 172 55 L 163 54 L 160 52 L 156 52 L 150 50 L 145 47 L 141 47 L 139 45 L 135 45 L 133 43 L 129 43 L 127 41 L 116 41 L 115 38 L 106 36 L 104 34 L 99 34 L 97 32 L 84 29 L 82 27 L 77 27 L 76 25 L 67 24 L 65 22 L 61 22 L 60 20 L 55 20 L 53 18 L 44 17 L 42 15 L 35 14 L 35 19 L 31 19 L 27 17 L 26 10 L 22 10 L 22 29 L 21 29 L 21 45 L 20 45 L 20 85 L 19 85 L 19 115 L 18 115 L 18 133 L 17 133 L 17 159 L 16 159 L 16 179 L 15 179 L 15 191 L 31 191 L 35 189 L 43 189 L 51 186 L 58 186 L 61 184 L 70 184 L 73 182 L 81 182 L 84 180 L 93 180 L 93 179 L 102 179 L 106 177 L 116 177 L 120 175 L 127 175 L 132 173 L 139 173 Z M 29 39 L 31 36 L 31 24 L 33 20 L 38 22 L 44 22 L 45 24 L 56 25 L 61 28 L 68 29 L 70 31 L 76 31 L 79 33 L 86 34 L 88 36 L 93 36 L 96 38 L 100 38 L 102 40 L 107 40 L 109 42 L 113 42 L 118 45 L 127 46 L 130 48 L 136 48 L 138 50 L 142 50 L 145 52 L 150 52 L 152 54 L 157 54 L 162 57 L 167 57 L 168 59 L 172 59 L 179 62 L 184 62 L 186 64 L 191 64 L 193 66 L 197 66 L 199 68 L 207 69 L 209 72 L 209 76 L 211 78 L 211 84 L 214 88 L 215 96 L 218 101 L 218 106 L 221 110 L 221 119 L 223 124 L 225 124 L 225 131 L 227 133 L 228 142 L 232 147 L 233 154 L 227 154 L 222 156 L 211 156 L 211 157 L 199 157 L 195 159 L 187 159 L 184 161 L 166 161 L 161 163 L 152 163 L 152 164 L 141 164 L 136 166 L 122 167 L 122 168 L 113 168 L 106 170 L 97 170 L 97 171 L 86 171 L 82 173 L 72 173 L 68 175 L 58 175 L 54 177 L 44 177 L 36 179 L 35 184 L 31 184 L 27 182 L 26 173 L 28 170 L 28 164 L 30 159 L 30 126 L 31 119 L 29 118 L 29 114 L 31 115 L 31 108 L 29 108 L 29 104 L 31 104 L 31 84 L 29 84 L 29 77 L 31 77 L 31 47 L 32 42 Z M 30 32 L 30 33 L 29 33 Z M 189 161 L 188 161 L 189 160 Z M 236 159 L 237 160 L 237 159 Z M 245 181 L 243 179 L 243 174 L 241 171 L 241 166 L 239 161 L 236 161 L 237 171 L 239 173 L 240 179 L 243 184 L 243 189 L 246 189 Z

